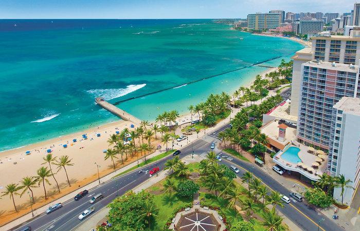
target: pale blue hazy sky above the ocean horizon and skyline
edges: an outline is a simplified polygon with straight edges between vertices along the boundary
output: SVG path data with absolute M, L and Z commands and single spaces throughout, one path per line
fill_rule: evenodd
M 246 18 L 249 13 L 350 12 L 354 0 L 0 0 L 0 18 Z

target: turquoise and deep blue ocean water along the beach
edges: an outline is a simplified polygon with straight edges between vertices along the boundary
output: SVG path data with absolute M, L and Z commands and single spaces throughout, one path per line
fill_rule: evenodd
M 289 60 L 302 48 L 212 20 L 0 20 L 0 36 L 0 151 L 118 120 L 95 97 L 114 103 L 278 56 Z M 250 67 L 118 106 L 147 120 L 170 109 L 185 113 L 264 70 Z

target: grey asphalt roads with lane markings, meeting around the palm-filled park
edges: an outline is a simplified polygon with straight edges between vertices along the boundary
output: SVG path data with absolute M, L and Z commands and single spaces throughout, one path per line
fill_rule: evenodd
M 207 134 L 204 138 L 198 139 L 193 142 L 192 145 L 188 145 L 184 148 L 181 148 L 181 157 L 185 157 L 187 155 L 191 155 L 192 148 L 194 150 L 194 155 L 203 156 L 205 152 L 209 151 L 210 143 L 213 142 L 218 133 L 224 130 L 228 125 L 220 127 L 216 131 L 211 134 Z M 186 141 L 182 141 L 186 142 Z M 225 155 L 225 154 L 224 154 Z M 172 156 L 168 156 L 164 159 L 161 159 L 146 168 L 141 168 L 144 170 L 149 170 L 155 166 L 158 166 L 160 169 L 164 169 L 164 164 L 167 160 L 173 158 Z M 274 190 L 279 191 L 283 195 L 289 195 L 290 190 L 282 186 L 277 181 L 273 180 L 271 176 L 266 174 L 263 170 L 261 170 L 258 166 L 241 161 L 239 159 L 234 158 L 231 161 L 225 160 L 222 161 L 223 164 L 226 165 L 238 165 L 240 169 L 239 177 L 244 174 L 245 169 L 249 170 L 254 174 L 254 176 L 260 178 L 264 184 L 271 187 Z M 155 177 L 155 176 L 153 176 Z M 76 229 L 77 226 L 81 224 L 82 221 L 78 219 L 78 216 L 88 207 L 95 207 L 96 211 L 105 207 L 112 200 L 114 200 L 117 196 L 121 196 L 124 192 L 140 185 L 149 179 L 149 174 L 138 173 L 138 170 L 134 170 L 129 174 L 117 177 L 111 181 L 100 184 L 99 186 L 89 189 L 89 195 L 87 198 L 82 198 L 79 201 L 68 200 L 63 203 L 63 207 L 53 211 L 51 214 L 43 214 L 39 217 L 35 217 L 34 219 L 24 223 L 19 228 L 15 230 L 20 230 L 21 228 L 29 225 L 32 227 L 32 230 L 71 230 Z M 102 193 L 104 198 L 99 202 L 96 202 L 94 205 L 89 204 L 88 200 L 95 194 Z M 74 196 L 77 192 L 74 192 Z M 299 228 L 302 230 L 317 230 L 317 222 L 322 218 L 325 221 L 321 222 L 320 230 L 341 230 L 340 226 L 338 226 L 335 222 L 328 219 L 327 217 L 321 216 L 318 212 L 308 206 L 305 202 L 299 203 L 292 201 L 290 204 L 285 205 L 283 208 L 279 208 L 281 213 L 285 215 L 287 218 L 292 220 Z M 89 215 L 91 217 L 95 213 Z M 87 218 L 88 218 L 87 217 Z M 85 219 L 87 219 L 85 218 Z

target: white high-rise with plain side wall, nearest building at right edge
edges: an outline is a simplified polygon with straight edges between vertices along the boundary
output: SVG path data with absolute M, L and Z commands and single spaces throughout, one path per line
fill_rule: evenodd
M 341 98 L 333 106 L 332 125 L 327 167 L 331 176 L 341 174 L 351 181 L 352 188 L 345 188 L 343 195 L 350 204 L 360 181 L 360 99 Z M 333 196 L 341 202 L 341 188 L 335 188 Z

